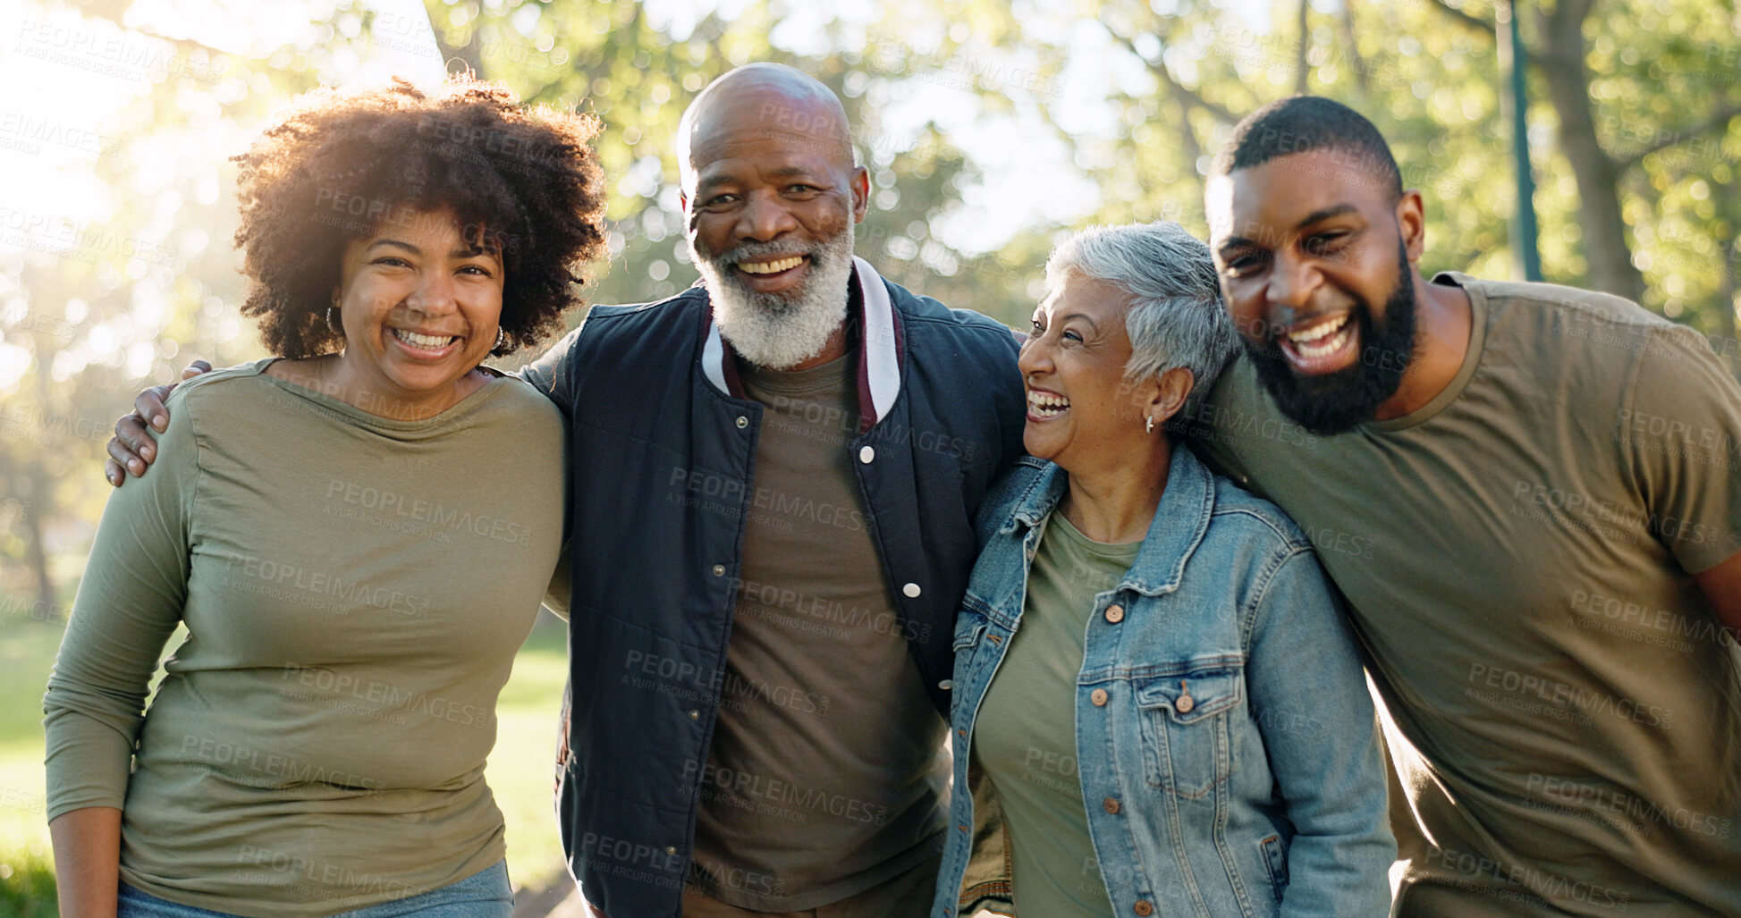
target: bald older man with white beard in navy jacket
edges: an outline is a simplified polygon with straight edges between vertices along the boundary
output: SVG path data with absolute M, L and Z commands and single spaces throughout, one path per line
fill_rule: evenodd
M 595 307 L 524 371 L 573 434 L 569 869 L 611 918 L 924 915 L 973 514 L 1022 455 L 1017 341 L 853 258 L 869 176 L 804 73 L 714 80 L 677 160 L 702 282 Z M 111 481 L 153 455 L 158 399 Z

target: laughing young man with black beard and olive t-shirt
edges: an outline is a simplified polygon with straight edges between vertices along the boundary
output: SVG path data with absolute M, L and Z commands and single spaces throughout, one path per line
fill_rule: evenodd
M 1245 118 L 1207 199 L 1245 357 L 1200 446 L 1349 599 L 1395 915 L 1741 915 L 1741 387 L 1631 301 L 1422 279 L 1421 195 L 1328 99 Z

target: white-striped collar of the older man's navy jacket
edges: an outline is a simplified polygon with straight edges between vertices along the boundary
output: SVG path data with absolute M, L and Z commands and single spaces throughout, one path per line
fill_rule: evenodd
M 858 310 L 858 432 L 870 430 L 888 416 L 900 395 L 902 327 L 883 275 L 864 258 L 853 256 L 851 280 L 846 284 L 846 310 Z M 714 388 L 743 399 L 738 362 L 731 343 L 719 336 L 714 307 L 707 307 L 707 343 L 702 345 L 702 371 Z

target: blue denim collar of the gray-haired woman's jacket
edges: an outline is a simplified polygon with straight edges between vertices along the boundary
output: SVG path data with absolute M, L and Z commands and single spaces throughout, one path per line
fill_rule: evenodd
M 1017 498 L 1015 509 L 999 533 L 1012 535 L 1018 526 L 1029 530 L 1041 526 L 1064 500 L 1067 488 L 1069 474 L 1046 462 L 1041 474 L 1034 476 L 1034 481 Z M 1203 542 L 1213 512 L 1215 477 L 1191 455 L 1189 446 L 1175 442 L 1161 505 L 1154 509 L 1149 535 L 1142 538 L 1137 563 L 1125 571 L 1125 578 L 1118 584 L 1119 589 L 1144 596 L 1160 596 L 1179 589 L 1186 561 Z

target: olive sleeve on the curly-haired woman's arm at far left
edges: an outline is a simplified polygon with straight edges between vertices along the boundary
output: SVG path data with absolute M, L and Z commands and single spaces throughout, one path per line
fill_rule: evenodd
M 192 387 L 188 387 L 192 388 Z M 47 815 L 120 807 L 164 643 L 188 594 L 195 411 L 176 392 L 151 474 L 110 491 L 42 699 Z

